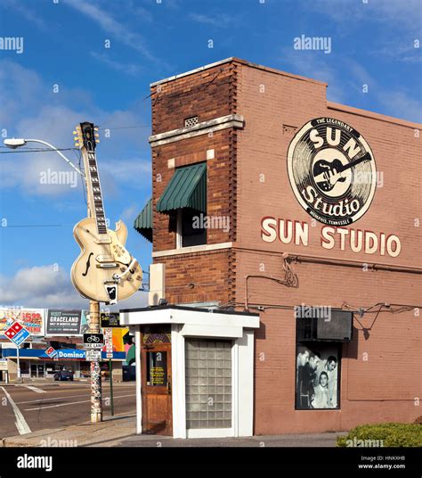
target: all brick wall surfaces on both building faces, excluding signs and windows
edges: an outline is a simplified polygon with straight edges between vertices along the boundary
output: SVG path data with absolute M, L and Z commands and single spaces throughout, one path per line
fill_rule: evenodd
M 215 160 L 207 161 L 208 214 L 227 213 L 231 217 L 228 234 L 207 231 L 207 243 L 232 241 L 231 250 L 154 260 L 166 263 L 167 299 L 178 303 L 217 300 L 243 309 L 245 276 L 283 278 L 283 251 L 357 260 L 362 265 L 383 262 L 420 268 L 420 227 L 415 227 L 415 218 L 420 216 L 421 151 L 420 139 L 414 133 L 420 125 L 394 123 L 386 117 L 341 106 L 345 111 L 338 111 L 336 105 L 327 103 L 324 84 L 253 68 L 244 62 L 223 65 L 223 73 L 215 78 L 212 89 L 201 89 L 220 68 L 170 81 L 162 86 L 161 99 L 153 100 L 154 134 L 183 128 L 183 119 L 195 114 L 203 121 L 236 112 L 246 120 L 244 130 L 227 129 L 212 137 L 197 136 L 153 148 L 154 207 L 174 172 L 167 168 L 168 159 L 175 158 L 177 167 L 205 161 L 207 149 L 215 149 Z M 352 227 L 398 235 L 402 241 L 398 257 L 321 248 L 322 225 L 312 227 L 311 217 L 296 201 L 288 182 L 288 144 L 296 128 L 323 116 L 344 120 L 368 141 L 377 170 L 384 174 L 384 185 L 377 187 L 368 212 Z M 158 174 L 161 182 L 157 181 Z M 264 243 L 264 216 L 307 222 L 309 245 Z M 154 251 L 174 246 L 168 217 L 155 213 Z M 344 302 L 356 308 L 377 302 L 420 304 L 420 275 L 305 262 L 293 264 L 293 268 L 299 280 L 297 288 L 251 279 L 249 303 L 335 308 Z M 421 415 L 414 400 L 422 393 L 420 318 L 412 311 L 382 311 L 365 338 L 361 326 L 369 327 L 375 317 L 367 314 L 361 324 L 354 320 L 353 342 L 343 346 L 341 410 L 296 411 L 293 311 L 265 309 L 256 331 L 256 433 L 345 430 L 365 422 L 412 421 Z

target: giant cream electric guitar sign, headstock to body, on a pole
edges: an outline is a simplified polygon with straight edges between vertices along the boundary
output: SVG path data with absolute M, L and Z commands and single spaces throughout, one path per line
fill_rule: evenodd
M 139 290 L 142 269 L 126 251 L 126 225 L 119 220 L 116 230 L 107 227 L 95 155 L 95 130 L 93 123 L 85 122 L 74 131 L 84 158 L 90 217 L 79 221 L 73 229 L 81 252 L 72 266 L 71 279 L 86 299 L 114 304 Z

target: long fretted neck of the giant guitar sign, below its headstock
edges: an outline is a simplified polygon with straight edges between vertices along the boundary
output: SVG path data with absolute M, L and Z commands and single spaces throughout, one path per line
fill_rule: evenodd
M 88 191 L 89 210 L 91 217 L 95 218 L 99 235 L 107 234 L 107 226 L 102 201 L 100 175 L 98 172 L 95 152 L 83 150 L 85 163 L 86 189 Z

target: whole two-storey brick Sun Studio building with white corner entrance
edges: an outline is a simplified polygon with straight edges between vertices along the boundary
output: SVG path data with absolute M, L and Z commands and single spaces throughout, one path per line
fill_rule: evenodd
M 145 354 L 144 431 L 309 433 L 421 415 L 421 125 L 328 102 L 326 87 L 238 58 L 151 84 L 152 198 L 135 228 L 153 243 L 151 303 L 179 307 L 123 311 Z M 174 325 L 194 313 L 243 332 Z M 238 381 L 218 389 L 207 350 L 223 358 L 251 336 L 252 375 L 232 355 Z M 173 348 L 173 378 L 154 343 Z M 154 389 L 157 371 L 168 376 Z M 149 390 L 176 381 L 163 419 Z

